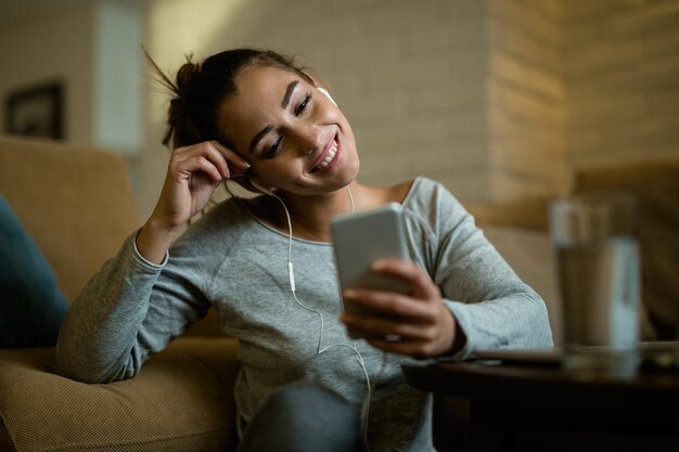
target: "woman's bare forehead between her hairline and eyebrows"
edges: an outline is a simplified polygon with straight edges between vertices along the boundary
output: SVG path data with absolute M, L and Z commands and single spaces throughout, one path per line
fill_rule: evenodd
M 249 140 L 262 128 L 274 125 L 282 113 L 281 101 L 293 80 L 306 82 L 298 74 L 271 66 L 253 66 L 235 77 L 236 92 L 219 108 L 220 134 L 233 151 L 247 154 Z

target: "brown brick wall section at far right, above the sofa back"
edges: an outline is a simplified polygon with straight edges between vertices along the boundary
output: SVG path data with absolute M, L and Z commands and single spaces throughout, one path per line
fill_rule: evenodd
M 679 154 L 679 1 L 567 5 L 569 165 Z

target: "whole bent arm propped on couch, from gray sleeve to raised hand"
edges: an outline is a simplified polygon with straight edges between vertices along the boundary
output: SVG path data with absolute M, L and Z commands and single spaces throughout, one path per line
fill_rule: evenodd
M 131 377 L 205 314 L 201 275 L 210 262 L 204 250 L 189 242 L 169 261 L 167 250 L 215 188 L 247 167 L 215 141 L 172 152 L 151 217 L 73 302 L 57 341 L 59 372 L 89 383 Z

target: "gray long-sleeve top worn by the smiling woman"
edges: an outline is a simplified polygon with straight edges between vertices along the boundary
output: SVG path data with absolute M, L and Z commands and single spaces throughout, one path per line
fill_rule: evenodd
M 440 184 L 413 182 L 403 201 L 410 258 L 440 287 L 466 345 L 474 350 L 552 345 L 542 299 L 525 285 Z M 74 301 L 57 344 L 57 367 L 84 382 L 136 375 L 214 305 L 222 330 L 240 341 L 235 385 L 239 429 L 277 388 L 313 382 L 360 410 L 366 376 L 356 353 L 333 347 L 317 354 L 319 318 L 293 298 L 287 279 L 289 238 L 232 198 L 213 208 L 171 247 L 159 266 L 145 261 L 130 236 Z M 323 313 L 321 347 L 354 345 L 338 321 L 342 302 L 332 244 L 293 240 L 296 294 Z M 359 340 L 374 378 L 382 352 Z M 387 354 L 372 396 L 370 449 L 433 450 L 431 397 L 409 387 L 403 357 Z

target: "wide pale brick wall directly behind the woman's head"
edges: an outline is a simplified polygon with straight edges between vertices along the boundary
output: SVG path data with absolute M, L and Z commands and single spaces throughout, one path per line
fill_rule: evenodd
M 464 201 L 489 196 L 485 1 L 225 3 L 151 2 L 148 46 L 161 66 L 176 69 L 184 52 L 203 57 L 236 46 L 295 53 L 326 79 L 351 121 L 362 181 L 389 184 L 424 175 Z M 167 155 L 156 144 L 165 101 L 151 94 L 149 210 Z

